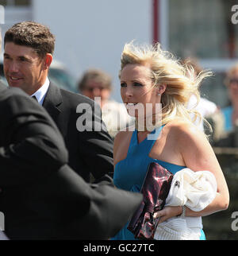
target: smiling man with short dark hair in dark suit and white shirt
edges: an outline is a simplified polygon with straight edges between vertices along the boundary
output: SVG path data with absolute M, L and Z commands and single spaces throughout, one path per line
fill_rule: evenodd
M 44 25 L 29 21 L 13 25 L 4 37 L 6 80 L 10 87 L 35 96 L 52 116 L 68 149 L 68 164 L 76 173 L 86 181 L 90 173 L 96 181 L 108 180 L 105 174 L 113 173 L 113 141 L 102 122 L 100 107 L 48 80 L 54 47 L 55 38 Z M 92 129 L 84 129 L 85 122 Z

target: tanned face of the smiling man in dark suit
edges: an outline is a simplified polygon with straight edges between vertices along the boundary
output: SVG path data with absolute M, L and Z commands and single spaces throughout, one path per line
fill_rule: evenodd
M 4 48 L 3 68 L 10 87 L 20 87 L 33 95 L 46 79 L 44 60 L 33 50 L 23 45 L 7 42 Z

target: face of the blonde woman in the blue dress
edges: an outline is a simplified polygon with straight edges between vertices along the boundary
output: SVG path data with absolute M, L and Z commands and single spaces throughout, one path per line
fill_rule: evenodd
M 155 103 L 160 103 L 158 89 L 153 86 L 151 77 L 151 69 L 144 65 L 127 64 L 122 69 L 121 99 L 130 115 L 149 114 L 151 107 L 155 111 Z

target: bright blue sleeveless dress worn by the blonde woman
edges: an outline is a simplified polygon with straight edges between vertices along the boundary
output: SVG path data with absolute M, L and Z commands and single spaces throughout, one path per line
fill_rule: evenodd
M 156 162 L 175 174 L 186 166 L 174 165 L 166 161 L 160 161 L 149 157 L 149 153 L 155 144 L 163 126 L 152 131 L 150 137 L 145 138 L 143 142 L 138 143 L 137 130 L 132 133 L 131 142 L 127 157 L 119 161 L 114 169 L 113 181 L 117 188 L 121 188 L 131 192 L 140 192 L 140 188 L 144 182 L 148 165 Z M 115 235 L 112 240 L 135 240 L 134 235 L 127 229 L 128 223 Z M 201 238 L 205 239 L 203 231 Z

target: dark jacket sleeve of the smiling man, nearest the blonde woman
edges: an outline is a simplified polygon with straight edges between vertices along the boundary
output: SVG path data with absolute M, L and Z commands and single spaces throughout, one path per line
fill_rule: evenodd
M 94 106 L 86 111 L 89 119 L 93 117 L 92 122 L 88 122 L 89 129 L 79 132 L 80 154 L 96 182 L 106 184 L 109 177 L 113 177 L 113 139 L 102 122 L 100 107 Z

